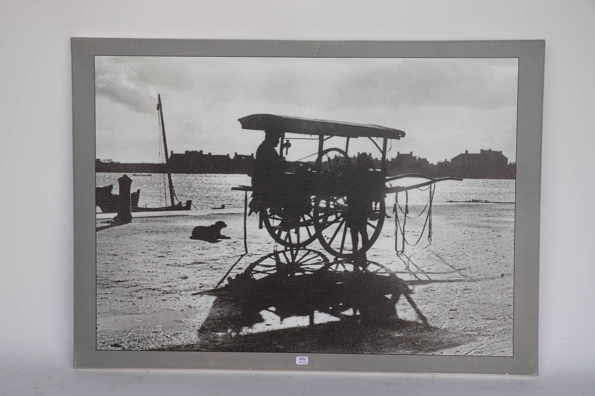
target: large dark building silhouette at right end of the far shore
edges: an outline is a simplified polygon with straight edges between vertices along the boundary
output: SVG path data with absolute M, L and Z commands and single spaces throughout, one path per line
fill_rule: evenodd
M 508 178 L 508 158 L 502 151 L 480 150 L 480 153 L 459 154 L 450 160 L 450 168 L 454 175 L 468 179 L 502 179 Z

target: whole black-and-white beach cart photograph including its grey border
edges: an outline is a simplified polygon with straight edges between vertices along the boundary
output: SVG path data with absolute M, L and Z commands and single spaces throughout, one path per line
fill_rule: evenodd
M 542 40 L 72 59 L 77 368 L 537 375 Z

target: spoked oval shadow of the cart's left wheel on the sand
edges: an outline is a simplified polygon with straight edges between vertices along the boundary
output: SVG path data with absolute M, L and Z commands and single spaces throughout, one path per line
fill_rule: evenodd
M 244 274 L 259 280 L 269 275 L 293 277 L 327 268 L 328 258 L 312 249 L 285 249 L 266 255 L 246 268 Z

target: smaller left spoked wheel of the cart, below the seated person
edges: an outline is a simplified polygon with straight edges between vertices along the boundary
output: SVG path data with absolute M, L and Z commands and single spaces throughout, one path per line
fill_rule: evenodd
M 287 218 L 283 221 L 283 214 L 275 213 L 271 208 L 262 207 L 259 213 L 268 233 L 275 242 L 286 248 L 305 248 L 316 239 L 312 210 L 300 216 L 294 223 L 287 223 Z

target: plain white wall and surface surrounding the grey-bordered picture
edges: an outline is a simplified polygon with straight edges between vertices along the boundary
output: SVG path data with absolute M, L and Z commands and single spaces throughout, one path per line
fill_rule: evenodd
M 540 376 L 73 370 L 70 37 L 545 39 Z M 0 394 L 593 394 L 593 1 L 3 1 Z

